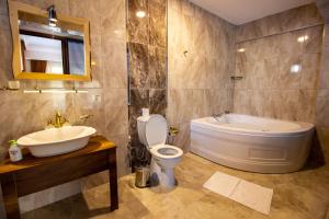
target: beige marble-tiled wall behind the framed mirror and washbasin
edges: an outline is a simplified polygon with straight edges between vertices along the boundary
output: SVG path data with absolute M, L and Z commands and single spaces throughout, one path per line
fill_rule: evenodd
M 84 125 L 97 128 L 99 134 L 117 143 L 118 174 L 127 168 L 127 84 L 125 0 L 20 0 L 46 9 L 56 5 L 58 13 L 90 20 L 92 67 L 91 82 L 21 81 L 22 88 L 86 88 L 81 94 L 23 94 L 22 91 L 0 91 L 0 149 L 7 153 L 7 141 L 44 128 L 47 120 L 59 110 L 68 120 L 79 123 L 83 114 L 92 114 Z M 7 0 L 0 0 L 0 85 L 12 80 L 11 33 Z M 56 186 L 20 198 L 22 211 L 63 199 L 82 188 L 107 181 L 106 173 Z M 1 216 L 0 216 L 1 218 Z

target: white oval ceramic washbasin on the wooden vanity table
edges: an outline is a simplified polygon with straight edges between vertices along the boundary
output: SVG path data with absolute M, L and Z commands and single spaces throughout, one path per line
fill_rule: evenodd
M 26 147 L 32 155 L 42 158 L 68 153 L 87 146 L 95 129 L 87 126 L 49 128 L 21 137 L 19 146 Z

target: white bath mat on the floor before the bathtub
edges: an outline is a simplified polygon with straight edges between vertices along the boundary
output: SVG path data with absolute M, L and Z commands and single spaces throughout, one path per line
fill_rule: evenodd
M 273 189 L 216 172 L 203 185 L 205 188 L 269 215 Z

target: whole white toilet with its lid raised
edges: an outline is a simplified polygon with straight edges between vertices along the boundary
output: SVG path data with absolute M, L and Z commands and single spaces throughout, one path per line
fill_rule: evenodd
M 173 187 L 174 168 L 180 162 L 183 151 L 178 147 L 166 145 L 168 135 L 166 118 L 156 114 L 140 116 L 137 118 L 137 128 L 140 142 L 151 153 L 151 181 L 158 178 L 161 187 Z

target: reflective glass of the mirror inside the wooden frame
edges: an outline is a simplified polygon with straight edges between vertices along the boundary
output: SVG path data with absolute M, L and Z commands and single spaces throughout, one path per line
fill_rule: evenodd
M 84 76 L 83 25 L 19 11 L 23 72 Z

